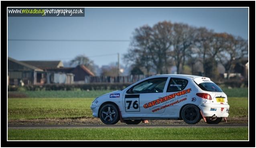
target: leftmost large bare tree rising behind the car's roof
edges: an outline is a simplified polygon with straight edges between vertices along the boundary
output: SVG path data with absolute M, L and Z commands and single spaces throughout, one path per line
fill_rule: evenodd
M 124 55 L 126 62 L 137 62 L 146 68 L 147 74 L 153 68 L 157 74 L 168 73 L 171 65 L 170 48 L 172 37 L 171 22 L 158 22 L 152 28 L 142 26 L 134 32 L 131 48 Z

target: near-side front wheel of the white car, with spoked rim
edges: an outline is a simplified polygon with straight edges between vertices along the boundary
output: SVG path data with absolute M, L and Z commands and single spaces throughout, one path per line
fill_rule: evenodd
M 100 120 L 104 124 L 116 124 L 119 121 L 118 108 L 114 104 L 105 104 L 100 108 Z

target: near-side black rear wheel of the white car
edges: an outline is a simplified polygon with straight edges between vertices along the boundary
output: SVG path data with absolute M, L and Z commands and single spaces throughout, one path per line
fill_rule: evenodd
M 193 104 L 187 104 L 181 111 L 181 118 L 187 124 L 196 124 L 201 120 L 200 110 Z

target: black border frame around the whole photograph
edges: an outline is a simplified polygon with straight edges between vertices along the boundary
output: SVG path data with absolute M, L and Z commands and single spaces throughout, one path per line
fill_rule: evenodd
M 255 52 L 255 1 L 1 1 L 1 16 L 2 16 L 2 24 L 1 24 L 1 30 L 4 32 L 6 30 L 7 25 L 4 24 L 6 21 L 6 7 L 59 7 L 59 6 L 69 6 L 69 7 L 90 7 L 90 6 L 97 6 L 97 7 L 105 7 L 105 6 L 140 6 L 140 7 L 165 7 L 165 6 L 171 6 L 171 7 L 249 7 L 250 12 L 250 18 L 249 18 L 249 30 L 250 30 L 250 51 L 251 55 Z M 7 32 L 7 30 L 6 30 Z M 1 34 L 2 38 L 2 54 L 5 53 L 6 48 L 6 33 Z M 3 54 L 4 55 L 4 54 Z M 254 55 L 251 56 L 252 59 L 255 60 Z M 2 58 L 2 68 L 6 63 L 6 59 Z M 249 75 L 251 75 L 251 80 L 253 80 L 253 77 L 255 76 L 255 63 L 253 60 L 251 60 L 251 71 L 249 72 Z M 6 77 L 2 74 L 2 80 L 6 80 Z M 249 82 L 250 83 L 250 82 Z M 4 81 L 2 81 L 2 86 L 6 85 Z M 2 135 L 1 138 L 1 147 L 99 147 L 99 146 L 112 146 L 112 147 L 127 147 L 127 146 L 142 146 L 142 147 L 170 147 L 170 146 L 176 146 L 176 147 L 212 147 L 213 145 L 215 147 L 255 147 L 255 85 L 254 82 L 251 81 L 251 86 L 249 87 L 249 91 L 251 90 L 250 95 L 250 137 L 249 141 L 6 141 L 6 136 Z M 6 99 L 2 97 L 1 99 L 2 105 L 2 121 L 6 121 Z M 1 125 L 2 131 L 6 131 L 6 124 L 5 122 L 2 122 Z M 4 132 L 2 132 L 4 133 Z M 143 144 L 143 145 L 140 145 Z M 213 145 L 212 145 L 213 144 Z

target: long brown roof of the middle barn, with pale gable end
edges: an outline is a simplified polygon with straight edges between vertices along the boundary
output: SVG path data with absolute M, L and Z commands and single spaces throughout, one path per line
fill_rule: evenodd
M 59 68 L 63 66 L 61 61 L 21 61 L 29 65 L 33 65 L 35 67 L 39 67 L 41 69 L 45 68 Z

